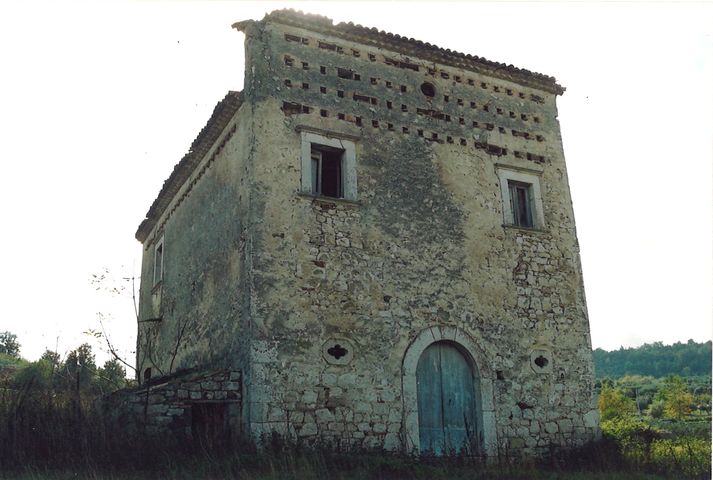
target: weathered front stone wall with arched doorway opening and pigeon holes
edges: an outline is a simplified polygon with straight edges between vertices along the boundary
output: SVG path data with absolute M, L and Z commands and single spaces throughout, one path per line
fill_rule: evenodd
M 246 377 L 253 434 L 403 448 L 402 361 L 437 326 L 478 345 L 499 453 L 542 454 L 595 436 L 554 96 L 274 23 L 246 33 L 246 96 L 261 132 Z M 431 99 L 424 81 L 435 85 Z M 297 193 L 303 128 L 358 139 L 356 202 Z M 542 228 L 503 225 L 499 168 L 539 176 Z M 324 353 L 339 342 L 352 353 L 346 364 Z

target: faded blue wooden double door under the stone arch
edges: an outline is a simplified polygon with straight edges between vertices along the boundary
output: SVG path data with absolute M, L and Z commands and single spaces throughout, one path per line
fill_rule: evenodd
M 474 451 L 476 439 L 473 372 L 452 344 L 437 342 L 416 368 L 419 441 L 422 453 Z

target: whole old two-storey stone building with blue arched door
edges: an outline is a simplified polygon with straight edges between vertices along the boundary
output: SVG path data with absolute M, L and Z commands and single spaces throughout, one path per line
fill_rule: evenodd
M 564 89 L 321 16 L 233 27 L 245 88 L 136 233 L 149 421 L 489 457 L 593 439 Z

